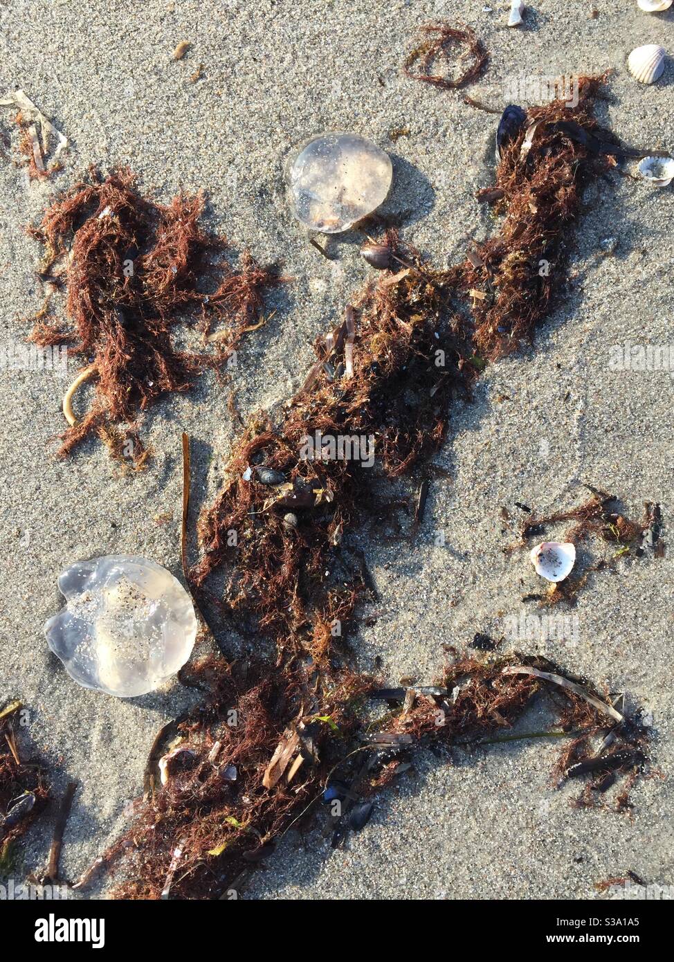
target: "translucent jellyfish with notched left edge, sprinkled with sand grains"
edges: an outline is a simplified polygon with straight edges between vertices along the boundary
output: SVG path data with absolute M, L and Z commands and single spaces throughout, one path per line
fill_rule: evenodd
M 66 605 L 44 632 L 80 685 L 120 698 L 145 695 L 187 662 L 197 631 L 194 606 L 161 565 L 107 555 L 70 565 L 58 584 Z

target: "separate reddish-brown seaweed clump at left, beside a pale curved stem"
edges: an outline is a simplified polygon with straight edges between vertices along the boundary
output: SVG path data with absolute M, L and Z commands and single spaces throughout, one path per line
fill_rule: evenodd
M 95 397 L 87 414 L 62 435 L 69 454 L 90 434 L 123 459 L 128 441 L 140 467 L 147 455 L 137 436 L 138 415 L 167 392 L 183 392 L 204 367 L 222 367 L 262 309 L 262 293 L 282 278 L 245 253 L 235 270 L 226 242 L 200 226 L 202 193 L 167 206 L 142 198 L 128 170 L 68 190 L 33 234 L 45 245 L 41 276 L 55 277 L 62 260 L 66 315 L 74 331 L 45 320 L 30 340 L 41 345 L 75 340 L 71 353 L 87 359 Z M 217 278 L 210 293 L 206 276 Z M 188 316 L 208 335 L 213 320 L 226 324 L 215 352 L 178 350 L 171 328 Z M 124 427 L 123 425 L 126 425 Z

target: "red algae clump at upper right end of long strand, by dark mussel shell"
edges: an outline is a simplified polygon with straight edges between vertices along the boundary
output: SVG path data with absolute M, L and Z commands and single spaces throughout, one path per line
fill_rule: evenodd
M 565 133 L 563 124 L 558 126 L 572 120 L 590 134 L 602 133 L 592 104 L 603 80 L 580 77 L 575 108 L 560 100 L 531 108 L 529 127 L 501 151 L 494 187 L 494 210 L 502 215 L 500 230 L 475 244 L 477 266 L 476 259 L 467 259 L 457 275 L 462 291 L 471 292 L 475 350 L 486 360 L 531 342 L 538 324 L 549 315 L 555 294 L 566 281 L 566 240 L 583 191 L 615 165 L 612 155 L 594 153 Z M 527 150 L 527 130 L 535 123 Z M 612 142 L 611 135 L 606 137 Z

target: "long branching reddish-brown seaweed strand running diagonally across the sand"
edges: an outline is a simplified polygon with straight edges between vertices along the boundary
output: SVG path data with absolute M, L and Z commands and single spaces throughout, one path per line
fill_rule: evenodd
M 583 82 L 575 114 L 592 129 L 587 97 L 596 84 Z M 559 117 L 567 108 L 540 110 Z M 225 485 L 202 519 L 204 553 L 190 582 L 200 596 L 213 576 L 224 576 L 223 611 L 240 630 L 249 626 L 274 640 L 277 661 L 228 665 L 210 658 L 192 667 L 190 683 L 204 690 L 205 700 L 179 725 L 184 741 L 171 756 L 174 772 L 138 802 L 129 831 L 102 856 L 110 866 L 121 860 L 117 898 L 227 898 L 241 873 L 311 811 L 336 772 L 358 797 L 367 797 L 395 777 L 401 752 L 420 740 L 451 747 L 507 731 L 543 691 L 550 693 L 562 729 L 576 733 L 558 779 L 575 777 L 580 761 L 587 772 L 611 764 L 612 774 L 626 773 L 628 780 L 641 771 L 646 733 L 638 718 L 608 722 L 614 710 L 597 707 L 606 707 L 605 696 L 594 693 L 587 700 L 578 685 L 551 685 L 547 676 L 559 679 L 562 670 L 541 658 L 463 659 L 443 672 L 437 690 L 412 691 L 411 698 L 407 693 L 402 707 L 372 722 L 364 702 L 376 694 L 375 681 L 346 667 L 333 630 L 352 617 L 366 588 L 362 572 L 350 565 L 347 545 L 376 480 L 409 472 L 437 450 L 454 394 L 466 391 L 475 376 L 466 364 L 475 346 L 494 357 L 512 350 L 531 336 L 550 303 L 552 288 L 539 286 L 537 273 L 534 280 L 535 265 L 515 258 L 515 270 L 508 257 L 527 252 L 537 258 L 559 244 L 558 235 L 578 209 L 567 175 L 574 170 L 577 179 L 589 176 L 602 165 L 576 141 L 539 133 L 526 167 L 515 156 L 519 144 L 512 144 L 499 179 L 506 193 L 511 175 L 525 194 L 539 191 L 549 223 L 529 209 L 528 215 L 521 212 L 525 219 L 517 231 L 510 213 L 518 204 L 513 180 L 512 195 L 504 198 L 504 231 L 481 251 L 496 298 L 494 305 L 477 306 L 474 339 L 452 302 L 456 291 L 487 284 L 487 271 L 469 261 L 435 272 L 411 253 L 403 258 L 409 266 L 369 284 L 337 329 L 316 342 L 316 363 L 280 423 L 259 415 L 245 426 Z M 543 171 L 561 174 L 557 188 L 566 190 L 557 200 L 538 185 Z M 522 298 L 520 285 L 527 288 Z M 505 333 L 492 331 L 502 315 L 511 326 Z M 307 456 L 307 439 L 316 431 L 333 438 L 372 435 L 376 469 L 358 459 L 324 460 L 315 447 L 314 456 Z M 237 544 L 227 538 L 231 531 Z M 516 673 L 504 671 L 509 668 Z M 228 725 L 232 708 L 240 722 L 235 726 Z M 597 735 L 618 749 L 611 762 L 591 757 Z M 230 766 L 236 779 L 228 774 Z M 587 791 L 603 793 L 605 787 L 603 777 Z M 334 844 L 340 831 L 337 826 Z

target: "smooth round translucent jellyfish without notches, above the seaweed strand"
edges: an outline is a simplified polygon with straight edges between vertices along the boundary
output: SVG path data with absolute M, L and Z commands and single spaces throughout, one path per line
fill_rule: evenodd
M 387 197 L 393 165 L 376 143 L 357 134 L 322 134 L 287 165 L 292 213 L 323 234 L 346 231 Z

